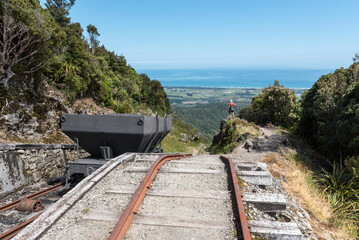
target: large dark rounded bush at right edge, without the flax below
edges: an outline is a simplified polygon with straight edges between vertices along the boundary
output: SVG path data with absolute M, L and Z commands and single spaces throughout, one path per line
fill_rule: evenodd
M 359 63 L 323 75 L 303 96 L 296 133 L 332 161 L 359 154 Z

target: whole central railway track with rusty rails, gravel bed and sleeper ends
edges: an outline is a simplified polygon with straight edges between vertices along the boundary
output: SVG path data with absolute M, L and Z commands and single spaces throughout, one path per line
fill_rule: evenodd
M 258 200 L 240 192 L 236 172 L 249 174 L 243 169 L 251 164 L 214 155 L 124 154 L 84 179 L 14 239 L 302 239 L 292 223 L 247 223 L 242 195 L 246 206 L 283 211 L 278 196 L 262 194 Z

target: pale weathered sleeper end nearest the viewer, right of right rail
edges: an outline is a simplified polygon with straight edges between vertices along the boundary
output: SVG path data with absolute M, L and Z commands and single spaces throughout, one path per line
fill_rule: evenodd
M 300 240 L 302 233 L 296 223 L 273 222 L 273 221 L 248 221 L 250 231 L 266 239 Z

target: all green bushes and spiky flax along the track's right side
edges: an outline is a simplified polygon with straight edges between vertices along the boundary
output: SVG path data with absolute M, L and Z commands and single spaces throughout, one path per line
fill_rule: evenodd
M 298 146 L 316 151 L 305 157 L 310 159 L 305 165 L 327 194 L 337 218 L 333 222 L 358 237 L 359 63 L 323 75 L 300 101 L 275 82 L 240 117 L 284 127 Z

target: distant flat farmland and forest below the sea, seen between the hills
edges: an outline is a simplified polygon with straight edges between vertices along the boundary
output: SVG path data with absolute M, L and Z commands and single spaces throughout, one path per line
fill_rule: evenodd
M 198 128 L 209 140 L 219 129 L 220 120 L 227 117 L 228 103 L 236 103 L 235 114 L 248 107 L 262 88 L 164 87 L 171 107 L 179 119 Z M 296 89 L 300 97 L 304 89 Z

